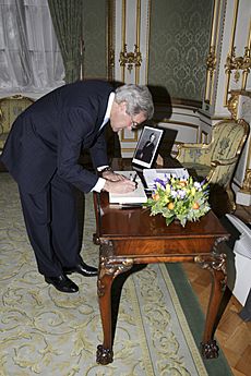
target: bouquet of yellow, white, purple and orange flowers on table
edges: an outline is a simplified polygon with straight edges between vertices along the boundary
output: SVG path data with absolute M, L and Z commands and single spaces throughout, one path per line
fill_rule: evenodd
M 196 221 L 210 210 L 208 183 L 170 177 L 156 179 L 152 197 L 144 206 L 151 208 L 151 215 L 162 214 L 167 226 L 178 219 L 182 227 L 187 221 Z

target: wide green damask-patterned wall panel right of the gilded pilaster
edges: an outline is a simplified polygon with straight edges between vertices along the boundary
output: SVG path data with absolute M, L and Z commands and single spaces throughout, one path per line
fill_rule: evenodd
M 170 97 L 202 100 L 213 0 L 153 0 L 148 84 Z

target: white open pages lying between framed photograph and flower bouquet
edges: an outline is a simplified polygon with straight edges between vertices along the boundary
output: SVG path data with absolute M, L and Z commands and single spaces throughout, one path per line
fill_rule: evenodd
M 148 189 L 153 189 L 155 185 L 156 179 L 166 180 L 169 179 L 170 175 L 179 179 L 187 180 L 189 178 L 189 173 L 187 169 L 183 168 L 176 168 L 176 169 L 144 169 L 143 177 L 145 183 Z

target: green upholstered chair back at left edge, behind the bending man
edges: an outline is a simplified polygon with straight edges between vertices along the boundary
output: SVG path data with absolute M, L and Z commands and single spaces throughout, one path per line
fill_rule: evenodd
M 14 120 L 33 102 L 34 99 L 22 95 L 0 98 L 0 154 Z

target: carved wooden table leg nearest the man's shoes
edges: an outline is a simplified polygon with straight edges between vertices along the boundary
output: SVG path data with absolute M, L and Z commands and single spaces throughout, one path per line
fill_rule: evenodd
M 97 281 L 97 293 L 99 310 L 101 316 L 104 341 L 98 344 L 96 361 L 100 364 L 113 362 L 112 351 L 112 328 L 111 328 L 111 284 L 113 279 L 121 272 L 129 270 L 132 259 L 122 259 L 117 262 L 116 258 L 108 258 L 111 254 L 112 244 L 110 242 L 100 245 L 99 272 Z

